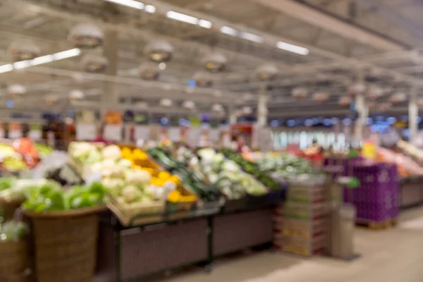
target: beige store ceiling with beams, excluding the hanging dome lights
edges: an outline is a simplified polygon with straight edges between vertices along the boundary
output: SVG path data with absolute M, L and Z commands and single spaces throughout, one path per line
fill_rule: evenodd
M 113 0 L 114 1 L 114 0 Z M 0 116 L 11 111 L 62 112 L 72 108 L 137 109 L 147 102 L 147 111 L 186 115 L 181 103 L 190 99 L 198 112 L 210 112 L 219 102 L 226 110 L 251 106 L 266 88 L 271 118 L 299 115 L 336 115 L 347 110 L 338 98 L 348 92 L 362 74 L 366 85 L 379 86 L 387 101 L 394 92 L 419 94 L 423 85 L 423 3 L 416 0 L 166 0 L 144 1 L 154 6 L 140 10 L 105 0 L 0 0 L 0 62 L 13 63 L 8 48 L 12 42 L 30 40 L 42 55 L 73 49 L 68 32 L 80 23 L 93 23 L 106 35 L 105 47 L 82 50 L 80 56 L 52 61 L 16 71 L 0 73 Z M 211 28 L 168 18 L 175 11 L 206 20 Z M 230 27 L 235 35 L 223 33 Z M 149 42 L 166 40 L 175 52 L 159 80 L 139 77 L 137 69 L 148 61 L 144 49 Z M 116 42 L 116 44 L 110 43 Z M 301 55 L 279 49 L 278 42 L 307 48 Z M 116 45 L 116 46 L 115 46 Z M 105 74 L 82 70 L 86 54 L 117 56 Z M 188 87 L 197 71 L 204 71 L 202 59 L 219 52 L 228 59 L 222 73 L 211 75 L 212 87 Z M 279 73 L 265 83 L 256 69 L 264 63 Z M 1 68 L 0 68 L 1 69 Z M 8 85 L 27 87 L 25 97 L 8 96 Z M 297 101 L 291 92 L 307 87 L 309 99 Z M 82 90 L 85 99 L 69 102 L 71 90 Z M 326 92 L 329 99 L 317 104 L 314 92 Z M 114 95 L 115 99 L 104 97 Z M 46 99 L 54 97 L 54 104 Z M 173 108 L 159 106 L 166 97 Z M 13 108 L 6 101 L 14 100 Z M 107 100 L 107 101 L 106 101 Z M 106 103 L 106 104 L 105 104 Z M 399 104 L 391 111 L 406 111 Z M 377 106 L 370 111 L 378 111 Z

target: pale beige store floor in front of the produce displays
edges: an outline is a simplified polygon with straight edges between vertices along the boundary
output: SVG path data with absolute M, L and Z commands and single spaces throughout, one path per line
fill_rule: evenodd
M 396 228 L 386 231 L 357 228 L 355 246 L 362 257 L 353 262 L 260 252 L 218 261 L 212 274 L 196 271 L 164 281 L 422 282 L 423 208 L 403 212 Z

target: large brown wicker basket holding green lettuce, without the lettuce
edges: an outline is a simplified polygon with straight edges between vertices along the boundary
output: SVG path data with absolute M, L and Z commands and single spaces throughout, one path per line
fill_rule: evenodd
M 35 214 L 35 276 L 38 282 L 92 282 L 97 258 L 99 212 L 104 206 Z

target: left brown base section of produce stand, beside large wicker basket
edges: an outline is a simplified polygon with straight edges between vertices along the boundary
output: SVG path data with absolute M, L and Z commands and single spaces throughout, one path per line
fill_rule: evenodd
M 104 223 L 101 230 L 94 281 L 137 281 L 209 259 L 206 217 L 128 229 Z

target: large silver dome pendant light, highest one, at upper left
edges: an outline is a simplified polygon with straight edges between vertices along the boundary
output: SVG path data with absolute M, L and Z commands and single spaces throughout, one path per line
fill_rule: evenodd
M 72 27 L 68 39 L 75 47 L 93 49 L 104 44 L 104 33 L 96 25 L 82 23 Z

